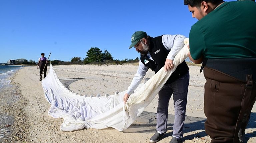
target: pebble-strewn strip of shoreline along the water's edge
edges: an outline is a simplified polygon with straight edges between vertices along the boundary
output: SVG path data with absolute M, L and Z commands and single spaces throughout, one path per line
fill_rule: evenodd
M 26 106 L 26 99 L 20 94 L 19 85 L 12 82 L 16 73 L 8 78 L 11 81 L 10 85 L 0 89 L 0 115 L 5 118 L 1 123 L 3 135 L 0 142 L 21 142 L 26 141 L 27 138 L 28 124 L 23 111 Z

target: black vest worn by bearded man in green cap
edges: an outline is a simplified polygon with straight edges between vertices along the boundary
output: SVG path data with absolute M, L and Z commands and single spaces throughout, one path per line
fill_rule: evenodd
M 144 65 L 157 73 L 164 66 L 166 57 L 169 52 L 170 51 L 168 51 L 163 45 L 162 36 L 158 36 L 155 38 L 150 37 L 149 53 L 154 61 L 143 55 L 140 55 L 140 60 Z M 183 61 L 177 66 L 176 70 L 172 73 L 172 75 L 165 84 L 174 82 L 176 79 L 185 75 L 187 72 L 188 66 L 186 62 Z

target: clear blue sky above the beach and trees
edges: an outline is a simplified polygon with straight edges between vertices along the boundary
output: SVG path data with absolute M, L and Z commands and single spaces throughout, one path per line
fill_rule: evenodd
M 233 1 L 233 0 L 229 0 Z M 135 59 L 131 35 L 145 31 L 189 36 L 192 18 L 183 0 L 1 0 L 0 63 L 85 58 L 91 47 L 108 50 L 114 59 Z

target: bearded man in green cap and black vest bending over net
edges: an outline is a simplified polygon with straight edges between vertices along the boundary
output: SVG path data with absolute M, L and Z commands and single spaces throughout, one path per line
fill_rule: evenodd
M 157 73 L 162 67 L 171 70 L 175 55 L 183 48 L 182 35 L 162 35 L 150 37 L 146 32 L 137 31 L 132 35 L 131 45 L 141 54 L 139 67 L 123 98 L 127 102 L 129 96 L 138 87 L 146 72 L 150 68 Z M 183 136 L 183 125 L 186 114 L 187 93 L 189 85 L 188 66 L 185 61 L 177 66 L 165 85 L 159 91 L 157 107 L 157 132 L 150 138 L 150 142 L 158 142 L 167 130 L 168 103 L 173 94 L 175 119 L 173 124 L 173 138 L 170 143 L 177 143 Z

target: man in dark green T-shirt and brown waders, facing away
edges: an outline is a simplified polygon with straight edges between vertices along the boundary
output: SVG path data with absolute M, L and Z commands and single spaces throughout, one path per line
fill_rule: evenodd
M 199 21 L 189 33 L 190 60 L 204 69 L 205 132 L 212 143 L 243 142 L 256 100 L 256 3 L 184 0 Z

